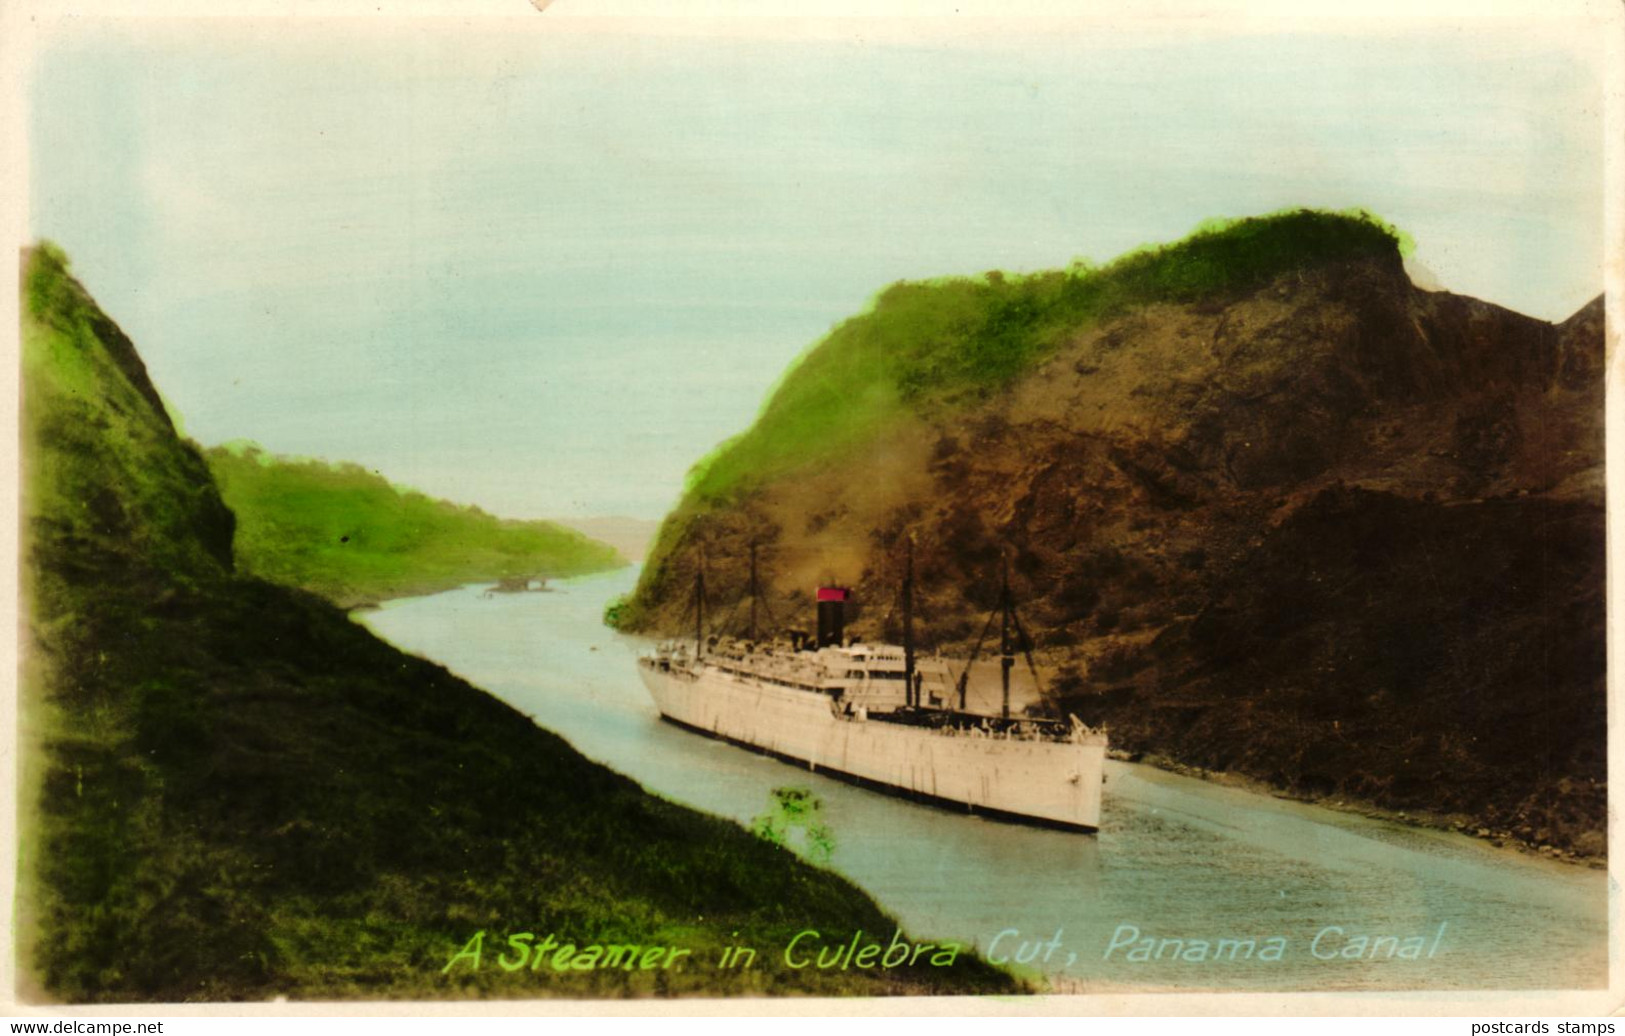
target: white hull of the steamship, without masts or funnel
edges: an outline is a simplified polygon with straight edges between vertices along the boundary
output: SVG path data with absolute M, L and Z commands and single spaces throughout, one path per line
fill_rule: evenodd
M 1094 831 L 1105 737 L 1024 740 L 837 716 L 827 695 L 702 666 L 639 666 L 660 714 L 700 734 L 972 814 Z

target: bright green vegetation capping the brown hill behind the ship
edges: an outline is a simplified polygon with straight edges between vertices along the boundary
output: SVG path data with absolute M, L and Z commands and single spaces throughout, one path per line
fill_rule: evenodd
M 696 464 L 684 507 L 850 453 L 910 416 L 978 403 L 1133 307 L 1196 302 L 1329 261 L 1398 261 L 1401 247 L 1399 231 L 1368 213 L 1297 209 L 1211 221 L 1098 268 L 894 284 L 785 373 L 746 434 Z

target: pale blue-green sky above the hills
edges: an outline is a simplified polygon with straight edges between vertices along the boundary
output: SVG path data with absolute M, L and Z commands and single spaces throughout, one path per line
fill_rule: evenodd
M 32 232 L 197 440 L 512 516 L 660 516 L 900 278 L 1363 206 L 1453 291 L 1602 289 L 1584 24 L 944 24 L 78 19 Z

